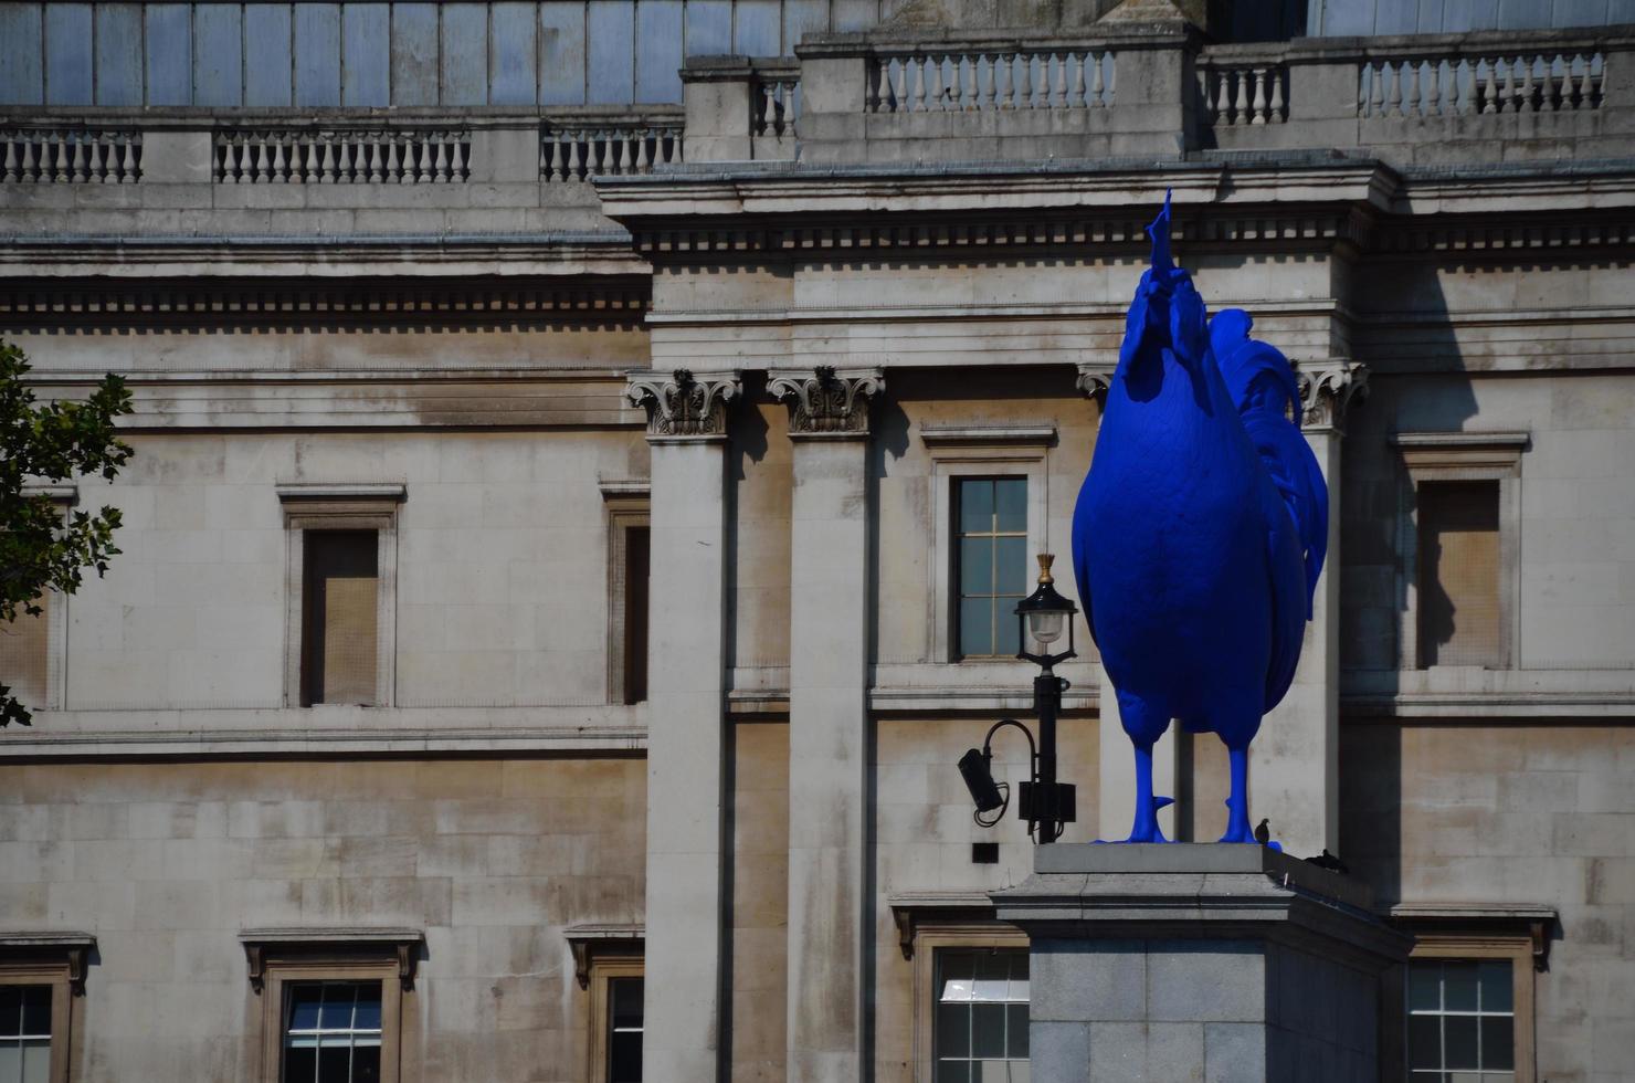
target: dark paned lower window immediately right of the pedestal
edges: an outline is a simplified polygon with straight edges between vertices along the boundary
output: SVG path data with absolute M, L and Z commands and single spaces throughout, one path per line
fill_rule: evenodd
M 1408 964 L 1411 1083 L 1511 1083 L 1516 1004 L 1507 959 Z

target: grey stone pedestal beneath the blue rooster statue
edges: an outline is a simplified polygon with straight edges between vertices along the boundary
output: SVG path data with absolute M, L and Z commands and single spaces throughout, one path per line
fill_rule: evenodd
M 1032 955 L 1032 1075 L 1373 1083 L 1409 937 L 1367 888 L 1259 846 L 1041 846 L 992 895 Z

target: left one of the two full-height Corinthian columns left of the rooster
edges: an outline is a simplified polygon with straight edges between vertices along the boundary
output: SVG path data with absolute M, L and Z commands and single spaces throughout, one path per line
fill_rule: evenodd
M 721 1050 L 726 414 L 737 373 L 634 373 L 652 447 L 643 1058 L 714 1080 Z

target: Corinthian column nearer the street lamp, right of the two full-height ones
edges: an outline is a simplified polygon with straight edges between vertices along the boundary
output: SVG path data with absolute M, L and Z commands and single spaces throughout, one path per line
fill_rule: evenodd
M 770 373 L 767 388 L 790 406 L 795 442 L 786 1070 L 845 1083 L 870 1075 L 868 437 L 885 380 L 818 368 Z

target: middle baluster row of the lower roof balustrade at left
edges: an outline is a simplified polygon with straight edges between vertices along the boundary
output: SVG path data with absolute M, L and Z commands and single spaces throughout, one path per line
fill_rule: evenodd
M 446 185 L 471 175 L 459 129 L 221 129 L 214 177 L 224 185 Z

